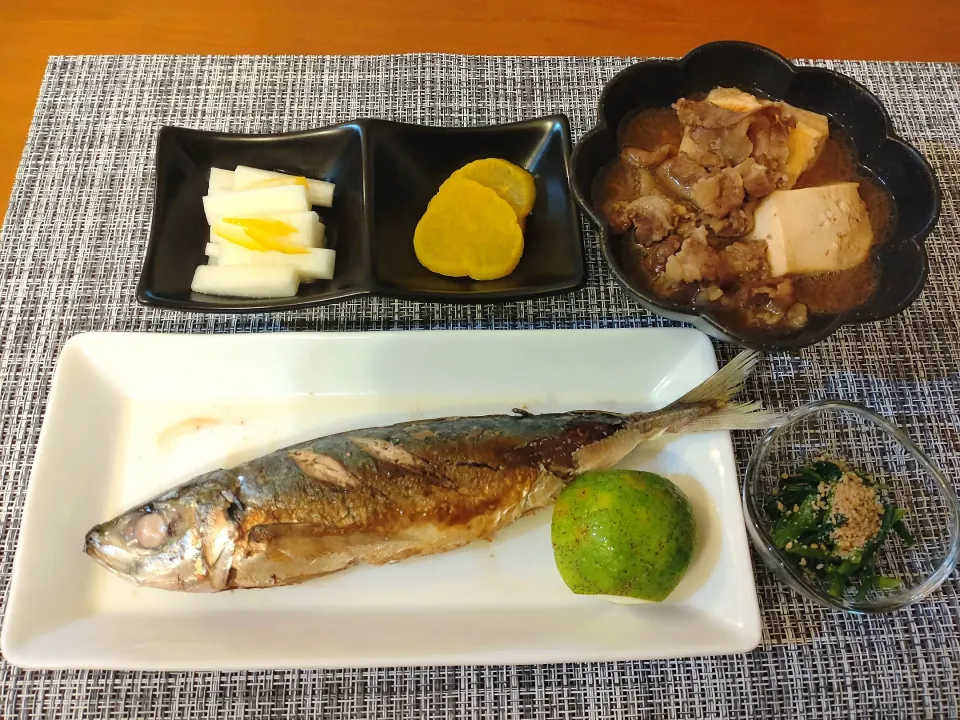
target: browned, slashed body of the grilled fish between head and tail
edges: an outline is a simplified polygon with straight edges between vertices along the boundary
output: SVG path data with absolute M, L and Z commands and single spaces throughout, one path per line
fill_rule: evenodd
M 341 433 L 238 468 L 247 507 L 229 587 L 301 582 L 492 538 L 552 502 L 622 416 L 448 418 Z

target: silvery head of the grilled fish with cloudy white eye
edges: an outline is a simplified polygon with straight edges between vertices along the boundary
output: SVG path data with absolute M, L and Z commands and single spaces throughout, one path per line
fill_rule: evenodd
M 84 551 L 138 585 L 223 590 L 242 512 L 222 486 L 175 488 L 91 529 Z

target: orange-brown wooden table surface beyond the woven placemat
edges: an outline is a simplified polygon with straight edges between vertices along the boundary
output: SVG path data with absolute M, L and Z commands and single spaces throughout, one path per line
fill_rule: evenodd
M 49 55 L 457 52 L 960 62 L 960 0 L 0 0 L 0 207 Z

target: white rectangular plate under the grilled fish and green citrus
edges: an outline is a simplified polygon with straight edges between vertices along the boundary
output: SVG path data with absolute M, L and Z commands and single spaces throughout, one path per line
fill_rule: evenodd
M 60 356 L 3 624 L 29 668 L 255 669 L 746 652 L 760 616 L 729 433 L 651 444 L 700 549 L 664 603 L 572 594 L 550 511 L 493 542 L 298 586 L 136 587 L 83 554 L 93 525 L 174 484 L 343 430 L 525 407 L 652 410 L 717 368 L 687 329 L 79 335 Z

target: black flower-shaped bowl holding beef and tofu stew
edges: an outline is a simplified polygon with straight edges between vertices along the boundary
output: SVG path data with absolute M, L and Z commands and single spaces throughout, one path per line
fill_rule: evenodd
M 886 188 L 893 216 L 887 239 L 874 248 L 880 282 L 869 303 L 838 315 L 811 315 L 805 328 L 789 335 L 750 333 L 730 327 L 708 309 L 658 297 L 625 272 L 618 239 L 591 201 L 597 175 L 617 155 L 617 128 L 639 108 L 664 107 L 718 86 L 738 87 L 827 115 L 831 132 L 839 127 L 850 140 L 861 172 Z M 759 45 L 713 42 L 679 60 L 646 60 L 625 68 L 604 87 L 597 115 L 596 127 L 573 151 L 574 196 L 599 228 L 600 247 L 614 276 L 650 312 L 691 323 L 743 347 L 790 350 L 818 343 L 843 325 L 896 315 L 923 290 L 928 273 L 923 243 L 940 214 L 940 187 L 920 152 L 897 137 L 877 97 L 849 77 L 824 68 L 797 67 Z

